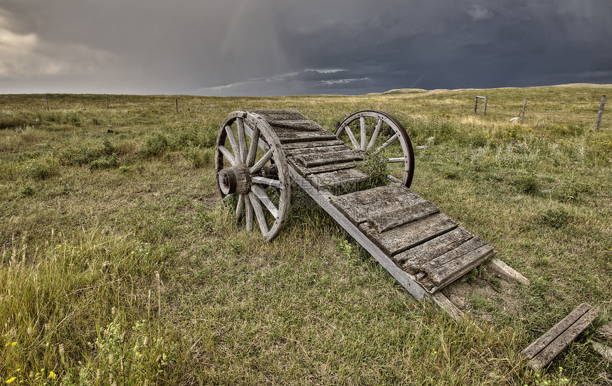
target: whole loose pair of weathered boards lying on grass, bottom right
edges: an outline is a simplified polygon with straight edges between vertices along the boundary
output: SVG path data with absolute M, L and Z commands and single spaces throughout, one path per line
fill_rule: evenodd
M 595 320 L 599 311 L 598 307 L 591 309 L 589 304 L 580 304 L 568 316 L 522 350 L 521 355 L 529 359 L 529 365 L 534 370 L 549 365 L 556 355 L 559 355 Z

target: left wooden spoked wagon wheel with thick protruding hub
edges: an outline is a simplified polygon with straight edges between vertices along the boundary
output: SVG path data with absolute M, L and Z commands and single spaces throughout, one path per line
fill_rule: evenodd
M 256 220 L 263 239 L 272 240 L 287 218 L 291 186 L 285 153 L 268 123 L 253 112 L 229 114 L 217 136 L 215 168 L 221 198 L 238 197 L 236 218 L 245 218 L 249 231 Z

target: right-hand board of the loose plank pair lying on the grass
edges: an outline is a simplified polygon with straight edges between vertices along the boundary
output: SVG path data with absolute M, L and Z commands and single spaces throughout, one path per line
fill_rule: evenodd
M 589 305 L 587 304 L 587 306 Z M 600 311 L 599 307 L 591 308 L 591 306 L 589 306 L 589 309 L 579 316 L 578 320 L 571 323 L 571 325 L 559 333 L 553 341 L 542 348 L 539 353 L 534 355 L 534 357 L 529 360 L 529 366 L 537 371 L 549 365 L 561 351 L 565 350 L 574 339 L 578 338 L 582 331 L 586 330 L 586 328 L 593 323 Z

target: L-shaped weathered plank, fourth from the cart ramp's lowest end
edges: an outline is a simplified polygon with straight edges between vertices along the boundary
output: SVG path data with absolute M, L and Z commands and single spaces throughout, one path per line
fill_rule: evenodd
M 457 223 L 444 213 L 438 213 L 416 223 L 403 225 L 383 233 L 372 230 L 367 223 L 359 225 L 359 229 L 389 256 L 423 244 L 455 227 Z

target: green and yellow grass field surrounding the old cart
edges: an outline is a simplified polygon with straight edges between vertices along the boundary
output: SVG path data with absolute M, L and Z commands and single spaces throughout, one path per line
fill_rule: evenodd
M 474 95 L 488 95 L 474 114 Z M 609 385 L 612 86 L 359 97 L 0 95 L 0 381 L 28 385 Z M 510 125 L 527 97 L 524 124 Z M 221 207 L 214 143 L 236 109 L 332 130 L 393 114 L 413 191 L 528 277 L 517 313 L 455 323 L 394 282 L 304 193 L 261 244 Z M 478 272 L 468 275 L 478 284 Z M 545 371 L 518 353 L 582 302 L 595 325 Z M 491 318 L 480 318 L 478 310 Z

